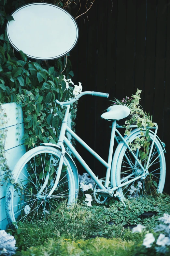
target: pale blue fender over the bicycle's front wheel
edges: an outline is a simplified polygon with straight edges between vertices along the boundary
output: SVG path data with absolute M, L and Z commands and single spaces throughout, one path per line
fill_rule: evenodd
M 53 144 L 53 143 L 41 143 L 41 146 L 50 146 L 50 147 L 54 147 L 57 148 L 61 151 L 61 147 Z M 70 164 L 70 167 L 73 171 L 73 176 L 74 176 L 74 180 L 75 180 L 75 186 L 76 186 L 76 199 L 78 197 L 78 189 L 79 189 L 79 184 L 78 184 L 78 170 L 77 170 L 77 166 L 75 164 L 75 162 L 73 161 L 72 157 L 65 151 L 65 155 L 64 157 L 67 159 L 67 161 Z

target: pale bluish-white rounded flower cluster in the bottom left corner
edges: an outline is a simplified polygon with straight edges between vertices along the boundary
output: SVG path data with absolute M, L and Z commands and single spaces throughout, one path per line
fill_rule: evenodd
M 15 238 L 7 234 L 5 230 L 0 230 L 0 255 L 9 255 L 15 254 L 17 247 L 15 247 L 16 241 Z

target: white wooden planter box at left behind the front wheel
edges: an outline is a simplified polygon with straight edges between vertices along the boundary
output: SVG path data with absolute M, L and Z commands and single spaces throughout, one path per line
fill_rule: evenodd
M 7 103 L 2 105 L 7 117 L 0 116 L 0 129 L 7 133 L 5 141 L 5 152 L 7 164 L 10 170 L 13 170 L 15 164 L 26 152 L 24 141 L 21 140 L 24 134 L 24 122 L 21 106 L 16 103 Z M 6 183 L 3 180 L 4 173 L 0 168 L 0 229 L 7 228 L 7 218 L 5 213 L 5 195 Z

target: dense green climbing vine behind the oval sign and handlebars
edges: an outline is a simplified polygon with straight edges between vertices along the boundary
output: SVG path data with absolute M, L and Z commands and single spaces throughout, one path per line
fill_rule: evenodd
M 58 142 L 64 109 L 56 105 L 55 99 L 66 101 L 82 90 L 81 83 L 77 86 L 72 81 L 74 73 L 69 53 L 57 60 L 31 61 L 22 51 L 18 53 L 11 48 L 5 31 L 5 21 L 13 19 L 8 12 L 29 2 L 32 1 L 16 0 L 11 5 L 7 0 L 0 0 L 0 25 L 3 32 L 0 35 L 0 104 L 16 102 L 21 105 L 25 128 L 22 139 L 27 150 L 42 142 Z M 62 1 L 54 2 L 62 6 Z M 2 108 L 0 111 L 3 115 Z M 70 109 L 73 130 L 76 111 L 77 102 Z M 11 181 L 5 158 L 4 129 L 0 133 L 1 170 L 6 173 L 5 180 Z

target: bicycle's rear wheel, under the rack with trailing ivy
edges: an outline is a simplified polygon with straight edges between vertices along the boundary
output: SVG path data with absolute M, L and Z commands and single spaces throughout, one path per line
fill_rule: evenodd
M 136 137 L 141 137 L 140 130 L 129 136 L 128 141 L 133 143 Z M 149 132 L 150 141 L 146 147 L 141 147 L 139 150 L 133 151 L 142 164 L 144 169 L 148 163 L 148 156 L 152 145 L 154 134 Z M 156 138 L 148 166 L 149 174 L 144 179 L 137 179 L 125 184 L 119 189 L 123 199 L 132 199 L 147 195 L 162 193 L 165 183 L 165 157 L 164 149 Z M 118 154 L 116 165 L 116 185 L 123 184 L 143 174 L 143 170 L 134 156 L 129 151 L 128 147 L 123 143 L 120 153 Z

